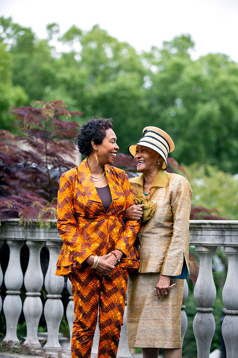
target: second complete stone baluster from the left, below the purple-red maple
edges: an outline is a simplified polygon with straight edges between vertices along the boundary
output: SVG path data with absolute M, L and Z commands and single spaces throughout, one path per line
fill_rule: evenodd
M 44 277 L 40 265 L 40 251 L 43 242 L 27 241 L 29 248 L 29 262 L 24 277 L 26 287 L 26 299 L 23 305 L 23 312 L 26 319 L 26 340 L 24 344 L 34 344 L 40 348 L 41 344 L 37 338 L 38 325 L 42 314 L 43 306 L 40 299 L 40 290 L 43 286 Z

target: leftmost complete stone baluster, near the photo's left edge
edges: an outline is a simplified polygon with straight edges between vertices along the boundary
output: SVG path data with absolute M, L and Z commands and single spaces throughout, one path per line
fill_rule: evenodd
M 3 311 L 6 319 L 5 341 L 19 342 L 16 335 L 17 323 L 21 314 L 22 303 L 20 289 L 23 283 L 23 274 L 20 263 L 22 240 L 7 240 L 10 249 L 9 262 L 4 276 L 6 297 L 3 302 Z

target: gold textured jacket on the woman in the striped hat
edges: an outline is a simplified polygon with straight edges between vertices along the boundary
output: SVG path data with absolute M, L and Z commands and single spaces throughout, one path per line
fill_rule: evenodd
M 144 175 L 130 179 L 135 195 L 143 192 Z M 141 224 L 135 241 L 140 255 L 138 272 L 189 276 L 189 216 L 192 189 L 186 178 L 160 169 L 148 203 L 157 203 L 153 217 Z M 185 261 L 184 261 L 185 260 Z M 187 267 L 186 267 L 187 266 Z M 185 272 L 185 277 L 184 276 Z

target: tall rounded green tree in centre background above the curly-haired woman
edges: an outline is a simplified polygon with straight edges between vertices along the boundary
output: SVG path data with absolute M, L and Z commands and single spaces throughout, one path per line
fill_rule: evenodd
M 83 108 L 82 118 L 100 115 L 114 119 L 114 129 L 122 151 L 141 136 L 146 110 L 144 77 L 148 70 L 127 43 L 120 43 L 98 25 L 83 33 L 72 28 L 62 37 L 72 51 L 60 60 L 70 70 L 61 72 L 67 93 Z M 81 47 L 76 54 L 75 47 Z M 59 81 L 62 83 L 60 77 Z M 82 119 L 81 118 L 81 119 Z

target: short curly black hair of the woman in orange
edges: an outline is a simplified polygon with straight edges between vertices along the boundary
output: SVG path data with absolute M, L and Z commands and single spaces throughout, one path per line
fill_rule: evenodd
M 99 116 L 92 117 L 82 124 L 77 134 L 80 153 L 84 156 L 89 155 L 92 151 L 91 140 L 93 139 L 96 144 L 101 144 L 106 137 L 106 130 L 112 128 L 112 125 L 112 118 L 101 118 Z

